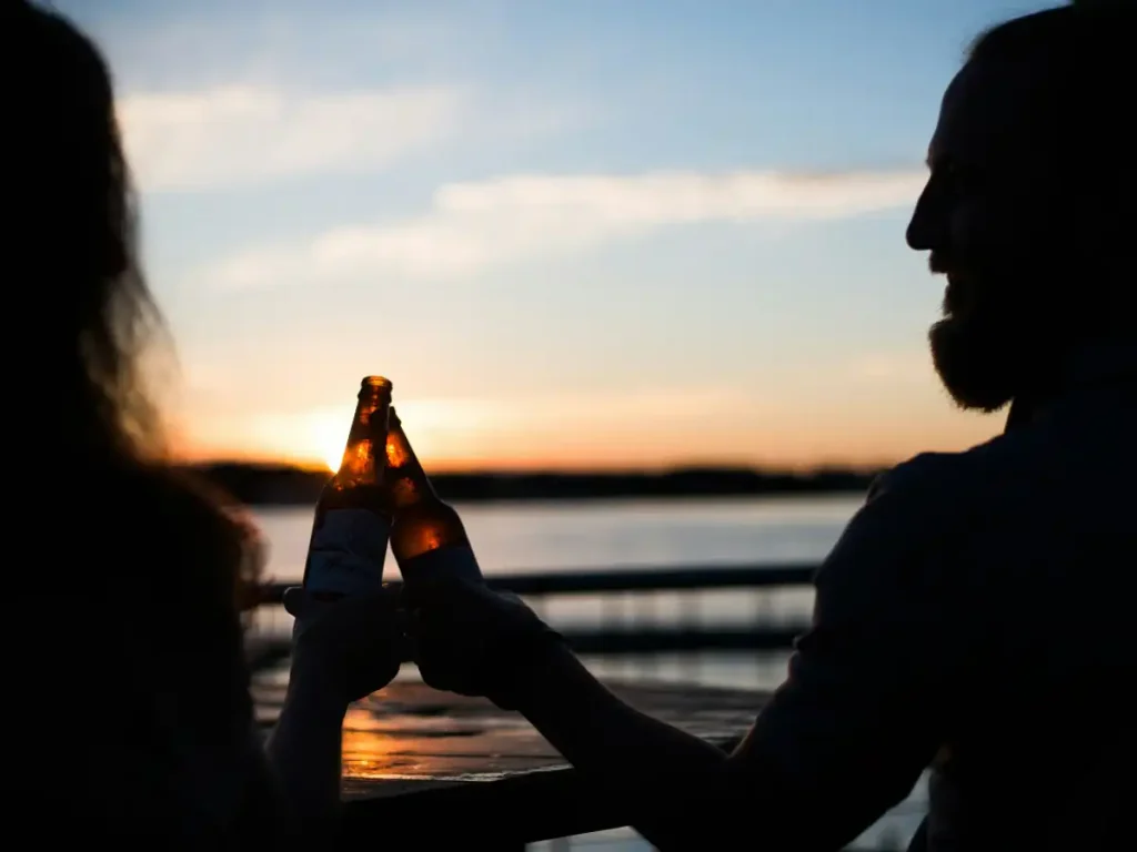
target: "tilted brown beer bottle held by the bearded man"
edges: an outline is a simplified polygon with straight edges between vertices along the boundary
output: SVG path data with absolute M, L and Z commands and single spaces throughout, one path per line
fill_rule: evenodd
M 393 409 L 387 433 L 387 493 L 395 516 L 391 553 L 404 582 L 455 576 L 481 582 L 482 573 L 462 518 L 434 491 Z

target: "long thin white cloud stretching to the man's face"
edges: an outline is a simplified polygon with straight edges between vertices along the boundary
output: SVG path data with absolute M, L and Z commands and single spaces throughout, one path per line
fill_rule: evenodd
M 921 172 L 516 175 L 439 187 L 432 209 L 250 249 L 206 269 L 229 290 L 358 276 L 466 276 L 696 223 L 818 220 L 912 203 Z

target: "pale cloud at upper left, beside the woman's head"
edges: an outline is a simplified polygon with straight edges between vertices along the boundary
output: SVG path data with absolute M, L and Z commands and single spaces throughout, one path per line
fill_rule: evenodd
M 140 187 L 161 192 L 381 168 L 448 135 L 465 101 L 445 86 L 313 94 L 232 85 L 131 94 L 118 116 Z

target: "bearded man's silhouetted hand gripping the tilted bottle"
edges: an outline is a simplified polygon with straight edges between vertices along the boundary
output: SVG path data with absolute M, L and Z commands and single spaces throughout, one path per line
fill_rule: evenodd
M 448 579 L 408 586 L 410 653 L 435 690 L 515 709 L 523 669 L 561 636 L 517 595 Z

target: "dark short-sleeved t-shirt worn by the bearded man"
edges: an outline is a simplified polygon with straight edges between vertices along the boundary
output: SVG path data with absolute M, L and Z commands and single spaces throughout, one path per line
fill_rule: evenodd
M 741 746 L 758 836 L 839 849 L 931 766 L 913 849 L 1129 840 L 1137 346 L 1084 352 L 1012 421 L 881 476 L 825 559 Z

